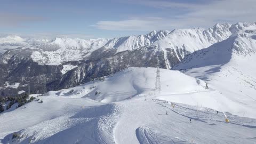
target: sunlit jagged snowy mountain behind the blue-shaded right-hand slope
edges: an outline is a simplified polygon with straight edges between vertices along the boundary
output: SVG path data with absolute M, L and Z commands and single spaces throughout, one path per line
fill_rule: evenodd
M 175 29 L 153 45 L 163 50 L 166 67 L 170 69 L 176 64 L 170 61 L 170 57 L 176 57 L 177 61 L 181 61 L 189 53 L 227 39 L 232 34 L 230 26 L 228 23 L 217 23 L 208 29 Z

